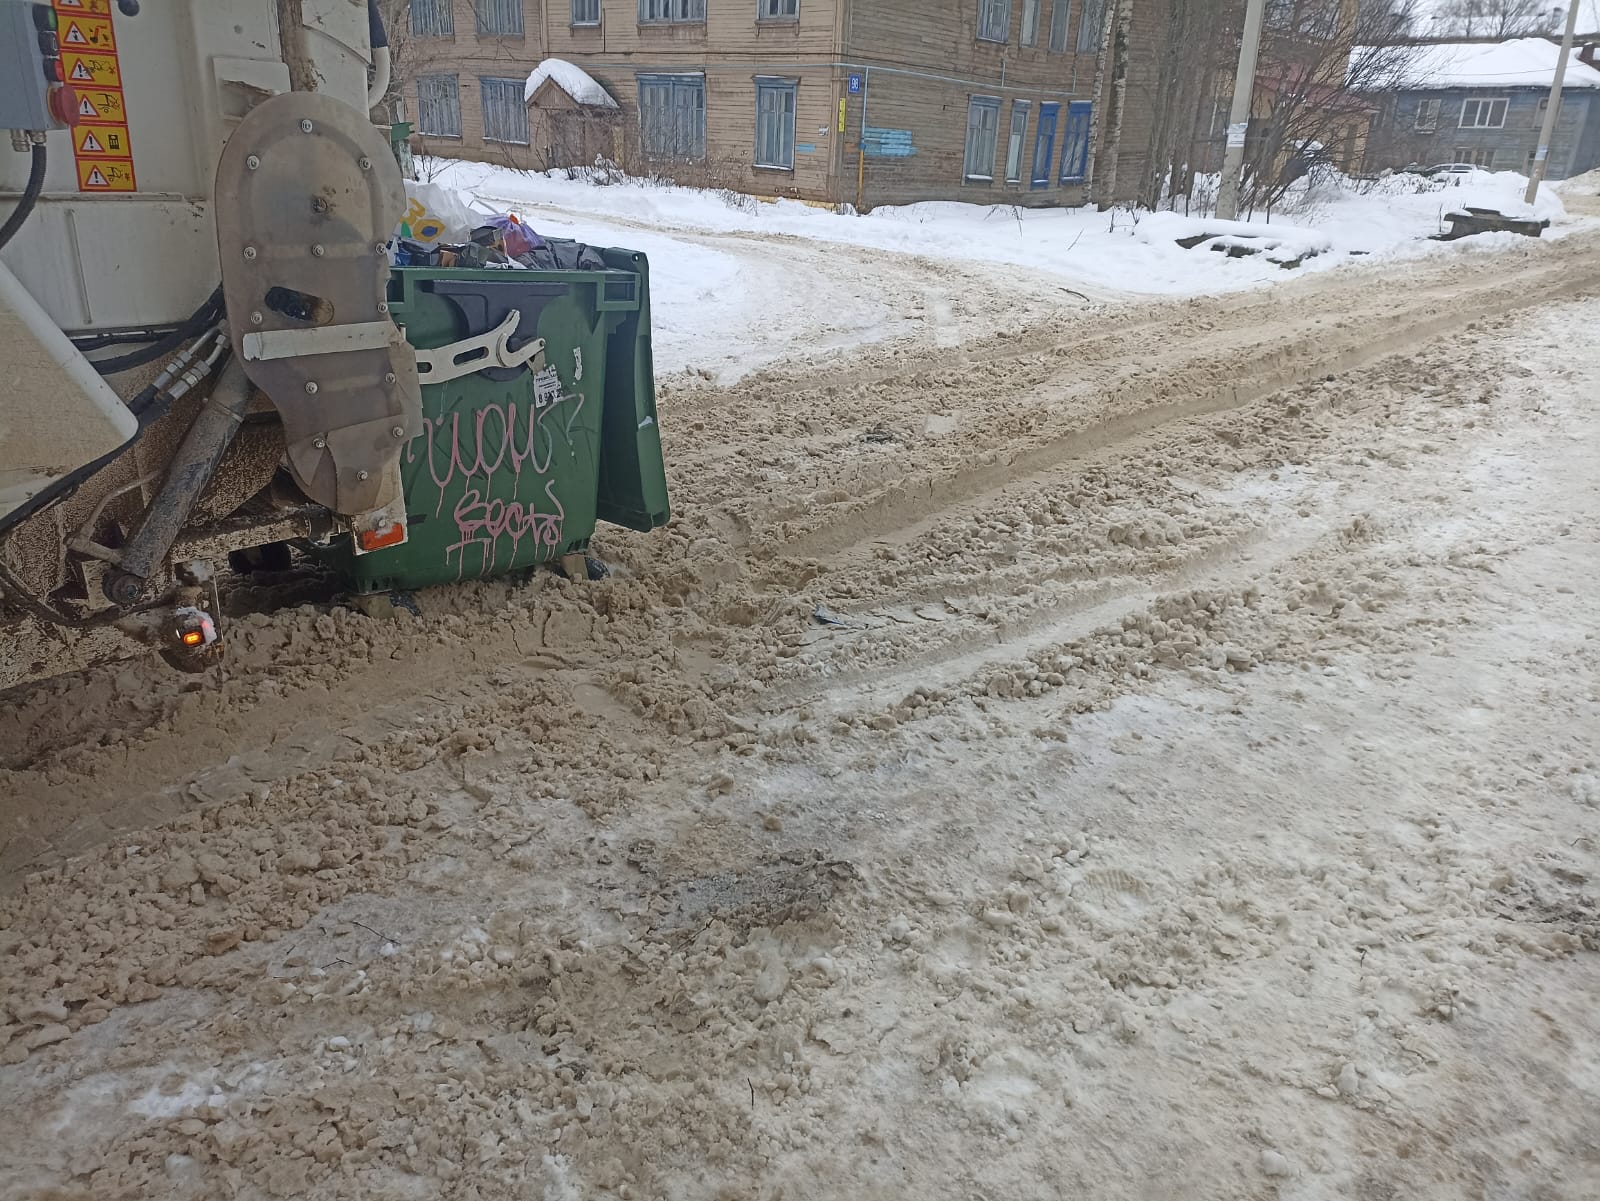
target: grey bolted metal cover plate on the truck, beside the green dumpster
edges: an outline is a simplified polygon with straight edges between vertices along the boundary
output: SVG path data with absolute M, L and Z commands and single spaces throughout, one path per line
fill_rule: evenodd
M 216 192 L 230 200 L 216 224 L 234 350 L 283 419 L 296 481 L 346 517 L 389 505 L 400 489 L 394 429 L 418 427 L 421 387 L 398 329 L 389 345 L 368 336 L 394 325 L 381 246 L 405 209 L 387 138 L 331 98 L 274 96 L 229 139 Z M 285 333 L 309 353 L 253 357 Z M 250 353 L 246 336 L 262 336 Z

